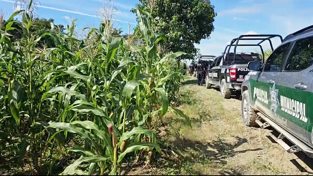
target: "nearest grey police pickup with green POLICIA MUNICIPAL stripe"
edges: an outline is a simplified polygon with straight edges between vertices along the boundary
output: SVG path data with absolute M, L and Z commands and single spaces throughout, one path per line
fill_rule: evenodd
M 313 25 L 285 37 L 264 64 L 251 61 L 248 68 L 241 87 L 244 124 L 272 126 L 288 153 L 313 158 Z

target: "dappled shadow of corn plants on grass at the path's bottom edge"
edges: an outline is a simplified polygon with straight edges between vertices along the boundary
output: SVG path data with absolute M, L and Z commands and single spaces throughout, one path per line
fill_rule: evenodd
M 194 141 L 183 137 L 177 137 L 176 140 L 168 143 L 163 151 L 162 156 L 157 161 L 157 168 L 163 170 L 167 167 L 172 167 L 177 170 L 175 174 L 197 174 L 203 175 L 208 173 L 201 172 L 201 169 L 193 168 L 194 164 L 203 165 L 203 167 L 214 168 L 219 165 L 218 168 L 223 168 L 227 164 L 228 158 L 234 157 L 239 153 L 245 153 L 247 151 L 258 151 L 261 148 L 235 151 L 236 148 L 244 143 L 247 143 L 246 138 L 235 137 L 237 139 L 234 143 L 225 142 L 223 139 L 218 138 L 213 142 L 203 143 L 200 141 Z M 161 142 L 163 143 L 163 142 Z M 181 173 L 181 170 L 185 170 Z M 232 170 L 227 168 L 225 170 L 217 170 L 221 175 L 242 175 L 240 170 Z M 167 173 L 162 173 L 167 174 Z

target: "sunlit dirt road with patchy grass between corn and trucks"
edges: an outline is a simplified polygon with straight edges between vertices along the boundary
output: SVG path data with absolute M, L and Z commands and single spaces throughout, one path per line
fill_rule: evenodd
M 184 160 L 177 169 L 181 174 L 309 174 L 309 168 L 299 166 L 298 157 L 270 140 L 269 136 L 275 133 L 273 129 L 243 125 L 240 100 L 223 99 L 218 89 L 198 86 L 191 76 L 185 78 L 181 96 L 179 109 L 192 118 L 192 128 L 181 122 L 168 123 L 160 133 L 173 145 L 171 153 L 177 155 L 177 160 Z M 175 118 L 176 115 L 167 116 Z

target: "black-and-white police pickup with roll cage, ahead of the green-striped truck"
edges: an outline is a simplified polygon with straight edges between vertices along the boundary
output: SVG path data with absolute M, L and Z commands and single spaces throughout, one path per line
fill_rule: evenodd
M 266 38 L 264 38 L 266 37 Z M 218 56 L 209 66 L 206 74 L 206 87 L 211 88 L 212 85 L 219 86 L 221 96 L 223 98 L 230 98 L 234 91 L 241 93 L 241 84 L 244 77 L 248 74 L 250 69 L 248 63 L 250 61 L 264 62 L 264 51 L 260 45 L 264 41 L 269 41 L 271 49 L 273 50 L 270 39 L 274 37 L 282 37 L 280 35 L 240 35 L 231 41 L 225 47 L 222 55 Z M 261 40 L 258 44 L 238 44 L 239 40 Z M 234 44 L 236 42 L 236 44 Z M 234 52 L 230 53 L 230 48 L 234 46 Z M 236 53 L 237 46 L 258 46 L 261 49 L 262 56 L 257 53 Z M 228 51 L 226 52 L 226 50 Z

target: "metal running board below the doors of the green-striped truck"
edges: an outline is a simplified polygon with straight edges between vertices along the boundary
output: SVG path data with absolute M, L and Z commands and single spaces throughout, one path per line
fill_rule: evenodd
M 290 134 L 289 132 L 287 132 L 285 129 L 283 129 L 282 127 L 280 127 L 279 125 L 277 125 L 274 121 L 272 121 L 271 119 L 269 119 L 268 117 L 266 117 L 264 114 L 262 114 L 261 112 L 258 112 L 257 115 L 259 115 L 264 121 L 265 123 L 267 123 L 266 125 L 269 125 L 271 127 L 273 127 L 276 131 L 280 132 L 280 135 L 276 138 L 275 136 L 271 135 L 271 137 L 282 147 L 284 148 L 288 153 L 295 153 L 295 152 L 299 152 L 299 151 L 303 151 L 307 156 L 309 156 L 310 158 L 313 158 L 313 149 L 310 148 L 308 145 L 306 145 L 304 142 L 300 141 L 299 139 L 297 139 L 296 137 L 294 137 L 292 134 Z M 264 127 L 265 123 L 262 122 L 257 122 L 259 120 L 256 120 L 256 123 L 258 125 L 260 125 L 261 128 Z M 265 125 L 265 126 L 266 126 Z M 288 139 L 290 142 L 292 142 L 293 144 L 295 144 L 294 146 L 289 146 L 288 144 L 286 144 L 282 139 L 286 138 Z

